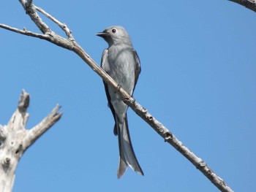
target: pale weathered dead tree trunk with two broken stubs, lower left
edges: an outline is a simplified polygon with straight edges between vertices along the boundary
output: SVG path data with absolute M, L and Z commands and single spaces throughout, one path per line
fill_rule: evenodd
M 10 192 L 15 180 L 15 170 L 18 161 L 28 149 L 45 131 L 48 130 L 60 118 L 59 106 L 34 128 L 26 129 L 29 113 L 29 93 L 22 91 L 18 101 L 17 110 L 6 126 L 0 125 L 0 191 Z

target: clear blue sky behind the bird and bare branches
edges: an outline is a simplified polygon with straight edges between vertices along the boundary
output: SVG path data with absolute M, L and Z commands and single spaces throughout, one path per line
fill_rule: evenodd
M 234 191 L 255 190 L 256 15 L 230 1 L 34 1 L 61 20 L 99 64 L 108 26 L 127 28 L 142 72 L 135 99 Z M 39 32 L 19 1 L 0 23 Z M 43 18 L 57 33 L 64 34 Z M 61 120 L 26 151 L 14 190 L 218 191 L 132 110 L 132 144 L 145 174 L 116 177 L 118 141 L 102 80 L 75 53 L 0 28 L 0 123 L 23 88 L 27 128 L 56 104 Z

